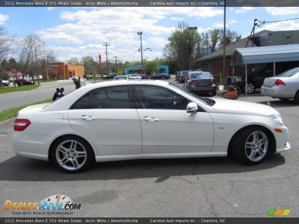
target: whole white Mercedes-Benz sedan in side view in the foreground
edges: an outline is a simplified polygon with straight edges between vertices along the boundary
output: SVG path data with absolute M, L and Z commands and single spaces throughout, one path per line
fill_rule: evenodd
M 75 173 L 93 161 L 229 151 L 253 165 L 289 149 L 287 140 L 281 115 L 270 106 L 203 98 L 164 81 L 124 80 L 83 86 L 51 104 L 20 110 L 12 148 Z

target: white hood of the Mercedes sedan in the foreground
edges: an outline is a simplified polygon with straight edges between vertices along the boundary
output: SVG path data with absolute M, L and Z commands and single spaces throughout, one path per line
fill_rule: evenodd
M 244 102 L 241 100 L 228 100 L 228 99 L 213 99 L 215 105 L 212 106 L 217 113 L 223 114 L 247 114 L 256 116 L 270 116 L 272 114 L 279 114 L 277 110 L 268 106 L 258 103 Z

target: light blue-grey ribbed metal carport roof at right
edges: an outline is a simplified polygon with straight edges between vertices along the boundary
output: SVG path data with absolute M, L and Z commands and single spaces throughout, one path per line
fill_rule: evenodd
M 230 65 L 299 61 L 299 44 L 236 48 Z

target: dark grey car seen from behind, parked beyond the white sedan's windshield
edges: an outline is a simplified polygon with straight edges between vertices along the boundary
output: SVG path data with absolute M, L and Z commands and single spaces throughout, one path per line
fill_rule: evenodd
M 189 72 L 184 89 L 192 93 L 211 93 L 216 96 L 216 80 L 210 72 Z

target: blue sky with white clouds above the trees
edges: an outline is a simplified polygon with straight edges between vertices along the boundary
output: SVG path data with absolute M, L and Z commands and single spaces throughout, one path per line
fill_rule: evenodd
M 299 7 L 226 7 L 226 29 L 247 37 L 254 19 L 279 21 L 265 23 L 260 30 L 299 30 Z M 290 20 L 293 19 L 293 20 Z M 285 21 L 281 21 L 285 20 Z M 223 29 L 223 7 L 1 7 L 0 26 L 7 34 L 25 37 L 35 34 L 45 41 L 60 62 L 71 57 L 98 54 L 106 61 L 141 61 L 142 31 L 143 58 L 148 61 L 162 57 L 168 37 L 178 22 L 197 27 L 195 32 L 206 33 Z M 150 49 L 146 49 L 150 48 Z

